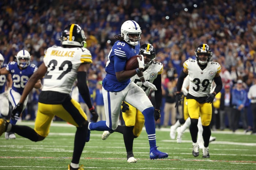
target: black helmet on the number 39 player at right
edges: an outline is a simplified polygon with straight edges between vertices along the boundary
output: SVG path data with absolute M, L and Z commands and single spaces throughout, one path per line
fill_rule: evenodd
M 207 44 L 200 44 L 198 47 L 196 47 L 195 54 L 197 62 L 199 62 L 200 64 L 206 64 L 211 60 L 212 51 Z M 204 56 L 199 58 L 200 54 L 204 54 Z

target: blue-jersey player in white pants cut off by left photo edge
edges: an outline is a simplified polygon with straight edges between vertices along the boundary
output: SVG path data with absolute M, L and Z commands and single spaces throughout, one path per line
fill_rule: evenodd
M 1 54 L 0 54 L 0 66 L 1 68 L 4 68 L 7 66 L 7 64 L 4 64 L 4 57 Z M 8 91 L 10 91 L 11 85 L 12 85 L 12 79 L 10 74 L 0 75 L 0 118 L 4 118 L 8 116 L 8 113 L 9 113 Z M 6 87 L 7 87 L 7 90 L 5 90 Z

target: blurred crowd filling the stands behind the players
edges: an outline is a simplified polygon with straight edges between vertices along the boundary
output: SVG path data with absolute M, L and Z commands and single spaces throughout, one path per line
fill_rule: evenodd
M 93 56 L 88 75 L 93 89 L 105 76 L 114 35 L 125 20 L 135 20 L 142 29 L 140 43 L 153 44 L 164 66 L 163 89 L 176 81 L 185 60 L 195 59 L 195 48 L 206 43 L 212 60 L 222 66 L 223 89 L 241 79 L 248 91 L 256 74 L 255 5 L 255 0 L 2 0 L 0 53 L 8 63 L 25 49 L 39 66 L 48 47 L 61 45 L 61 31 L 79 24 Z

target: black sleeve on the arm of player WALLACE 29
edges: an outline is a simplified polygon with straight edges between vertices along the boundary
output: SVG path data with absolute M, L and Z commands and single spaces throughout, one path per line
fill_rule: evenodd
M 90 92 L 86 82 L 86 75 L 87 73 L 84 71 L 79 71 L 77 73 L 77 87 L 84 102 L 89 108 L 92 108 L 93 105 L 91 104 Z

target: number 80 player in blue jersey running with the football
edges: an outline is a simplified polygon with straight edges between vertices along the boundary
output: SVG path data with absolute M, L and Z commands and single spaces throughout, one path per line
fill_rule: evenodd
M 130 79 L 137 74 L 144 88 L 157 90 L 154 84 L 144 79 L 144 57 L 142 56 L 142 60 L 138 58 L 138 68 L 125 71 L 127 60 L 139 54 L 141 33 L 139 24 L 128 20 L 121 26 L 121 36 L 115 36 L 118 40 L 109 52 L 105 69 L 106 77 L 102 81 L 106 121 L 89 123 L 88 128 L 98 131 L 115 130 L 118 126 L 121 104 L 125 101 L 144 115 L 150 158 L 166 158 L 168 154 L 158 151 L 156 146 L 154 107 L 144 90 Z

